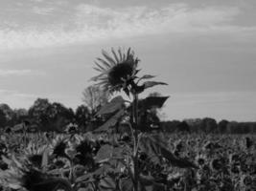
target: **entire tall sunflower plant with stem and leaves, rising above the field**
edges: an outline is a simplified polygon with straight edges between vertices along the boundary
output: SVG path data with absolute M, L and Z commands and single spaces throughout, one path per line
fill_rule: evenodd
M 155 180 L 151 179 L 150 175 L 144 175 L 142 169 L 139 168 L 139 157 L 142 153 L 147 153 L 149 159 L 154 163 L 159 163 L 164 158 L 181 168 L 197 167 L 188 160 L 176 158 L 168 150 L 167 142 L 163 135 L 144 133 L 145 127 L 140 123 L 139 110 L 147 110 L 153 107 L 160 108 L 168 96 L 150 96 L 139 101 L 139 95 L 155 85 L 167 84 L 150 81 L 149 79 L 154 77 L 151 74 L 139 76 L 139 59 L 130 49 L 126 53 L 121 49 L 117 52 L 112 49 L 111 53 L 112 56 L 103 51 L 104 58 L 97 58 L 95 70 L 100 72 L 100 74 L 93 77 L 92 80 L 98 82 L 96 85 L 103 87 L 104 91 L 109 91 L 111 94 L 124 91 L 128 97 L 131 96 L 132 100 L 127 101 L 122 96 L 116 96 L 105 104 L 97 115 L 111 115 L 111 117 L 96 131 L 105 132 L 119 124 L 124 118 L 129 117 L 127 122 L 130 123 L 132 145 L 131 150 L 128 149 L 126 151 L 123 148 L 122 154 L 126 156 L 124 162 L 128 168 L 129 180 L 133 183 L 134 191 L 145 189 L 143 187 L 146 186 L 146 181 L 148 184 L 150 182 L 152 187 L 156 186 Z M 127 102 L 130 106 L 126 104 Z M 148 128 L 149 130 L 151 129 L 151 127 Z M 126 148 L 130 147 L 127 146 Z M 109 154 L 115 153 L 115 148 L 111 146 L 105 146 L 104 149 L 105 151 L 102 152 L 104 152 L 106 157 L 101 157 L 100 159 L 102 160 L 111 158 Z

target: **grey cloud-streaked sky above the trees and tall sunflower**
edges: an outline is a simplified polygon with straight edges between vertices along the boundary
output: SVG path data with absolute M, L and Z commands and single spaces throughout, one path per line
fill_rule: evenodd
M 104 49 L 131 47 L 168 86 L 164 119 L 256 120 L 255 0 L 0 0 L 0 103 L 66 107 Z

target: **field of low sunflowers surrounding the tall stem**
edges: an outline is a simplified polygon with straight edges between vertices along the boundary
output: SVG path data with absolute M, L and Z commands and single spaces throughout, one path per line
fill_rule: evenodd
M 174 156 L 140 149 L 140 190 L 256 190 L 254 136 L 162 138 Z M 129 144 L 115 134 L 2 135 L 0 190 L 132 190 Z

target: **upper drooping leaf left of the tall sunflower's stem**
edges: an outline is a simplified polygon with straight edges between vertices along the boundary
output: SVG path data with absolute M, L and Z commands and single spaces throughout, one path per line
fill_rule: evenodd
M 116 96 L 111 99 L 110 102 L 106 103 L 105 106 L 97 113 L 97 115 L 105 115 L 116 112 L 117 110 L 123 108 L 125 100 L 122 96 Z

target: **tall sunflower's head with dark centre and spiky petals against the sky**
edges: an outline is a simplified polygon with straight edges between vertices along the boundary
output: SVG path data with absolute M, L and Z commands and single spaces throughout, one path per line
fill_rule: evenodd
M 105 91 L 113 93 L 124 90 L 126 94 L 130 88 L 134 86 L 139 59 L 134 56 L 134 53 L 128 49 L 127 53 L 122 53 L 121 49 L 116 53 L 111 50 L 113 56 L 103 51 L 104 59 L 97 58 L 94 69 L 101 74 L 92 78 L 93 81 L 99 81 L 97 85 L 103 86 Z M 100 63 L 101 64 L 100 64 Z

